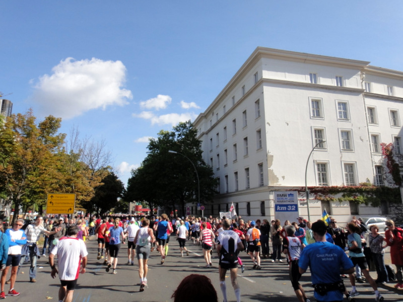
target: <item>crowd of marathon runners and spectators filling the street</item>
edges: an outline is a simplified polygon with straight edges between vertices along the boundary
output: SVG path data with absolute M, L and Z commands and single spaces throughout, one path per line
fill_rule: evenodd
M 186 245 L 200 246 L 203 250 L 206 268 L 213 266 L 212 255 L 217 253 L 219 263 L 215 265 L 219 267 L 218 279 L 225 302 L 227 301 L 225 282 L 227 271 L 230 272 L 231 285 L 236 299 L 241 300 L 237 273 L 238 267 L 242 273 L 245 270 L 245 265 L 241 260 L 243 257 L 250 257 L 253 265 L 248 269 L 256 270 L 262 269 L 261 258 L 269 259 L 269 263 L 284 262 L 289 269 L 291 285 L 299 302 L 310 301 L 299 283 L 301 274 L 308 267 L 310 267 L 315 288 L 315 298 L 318 301 L 342 301 L 343 296 L 348 301 L 354 301 L 354 297 L 360 294 L 357 291 L 356 282 L 362 283 L 365 278 L 373 289 L 375 300 L 379 302 L 383 301 L 383 297 L 378 291 L 377 284 L 390 281 L 383 261 L 383 250 L 386 246 L 390 246 L 391 260 L 397 270 L 395 288 L 403 288 L 403 231 L 396 228 L 392 220 L 386 222 L 388 231 L 386 231 L 385 237 L 378 233 L 376 225 L 370 226 L 367 230 L 360 219 L 355 217 L 346 225 L 346 228 L 338 226 L 337 221 L 332 217 L 330 217 L 328 226 L 322 220 L 314 223 L 306 221 L 303 217 L 298 217 L 297 220 L 298 222 L 291 223 L 286 220 L 282 224 L 279 219 L 271 222 L 266 219 L 244 221 L 241 217 L 236 219 L 212 216 L 203 218 L 168 217 L 166 214 L 151 217 L 108 216 L 105 218 L 91 217 L 91 219 L 38 216 L 32 224 L 23 225 L 24 220 L 18 219 L 12 229 L 5 232 L 3 230 L 5 234 L 2 234 L 0 257 L 5 260 L 1 267 L 2 292 L 0 298 L 4 298 L 6 295 L 4 286 L 7 283 L 11 284 L 8 295 L 20 294 L 14 289 L 14 284 L 19 267 L 24 260 L 30 260 L 30 281 L 36 282 L 36 257 L 40 255 L 37 241 L 41 234 L 45 236 L 41 253 L 42 256 L 45 256 L 48 249 L 52 277 L 57 272 L 53 257 L 55 255 L 61 257 L 59 252 L 63 248 L 61 243 L 65 242 L 63 239 L 82 239 L 85 242 L 89 237 L 95 236 L 98 243 L 97 260 L 103 262 L 105 271 L 116 274 L 118 259 L 127 257 L 127 260 L 124 260 L 127 261 L 127 265 L 138 266 L 140 291 L 144 291 L 148 287 L 147 273 L 150 255 L 153 252 L 159 255 L 160 263 L 163 265 L 169 255 L 169 244 L 173 243 L 179 246 L 181 257 L 189 255 Z M 58 243 L 59 241 L 61 243 Z M 84 248 L 77 245 L 77 249 L 77 257 L 81 255 L 86 258 L 85 245 Z M 2 250 L 4 250 L 3 254 Z M 247 254 L 240 254 L 243 251 Z M 345 251 L 348 251 L 349 257 Z M 369 274 L 369 263 L 375 265 L 377 272 L 375 280 Z M 85 272 L 87 260 L 82 261 L 82 264 L 82 270 Z M 323 270 L 323 265 L 335 266 L 333 270 L 329 271 Z M 6 281 L 10 266 L 12 274 Z M 320 267 L 322 269 L 319 269 Z M 183 282 L 201 278 L 197 275 L 192 276 Z M 75 282 L 77 282 L 77 278 L 78 275 L 75 276 Z M 348 278 L 350 284 L 344 284 L 343 278 L 346 278 L 346 281 Z M 68 280 L 61 279 L 64 291 L 69 292 L 70 290 L 70 296 L 64 294 L 59 295 L 59 298 L 61 297 L 60 301 L 70 302 L 75 283 L 66 285 L 66 281 Z M 201 280 L 201 282 L 204 281 L 204 279 Z M 351 290 L 348 290 L 347 288 L 350 286 Z M 180 296 L 178 290 L 172 295 L 175 301 L 180 301 Z

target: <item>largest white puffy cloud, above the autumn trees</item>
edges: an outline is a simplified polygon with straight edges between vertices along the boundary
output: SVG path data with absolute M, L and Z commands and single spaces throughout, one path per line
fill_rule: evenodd
M 92 58 L 76 61 L 69 57 L 39 77 L 33 101 L 44 115 L 73 118 L 86 111 L 128 104 L 130 90 L 122 88 L 126 67 L 121 61 Z

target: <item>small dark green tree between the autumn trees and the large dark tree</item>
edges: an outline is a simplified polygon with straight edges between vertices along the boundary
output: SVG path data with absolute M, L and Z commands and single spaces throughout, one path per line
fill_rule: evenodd
M 104 214 L 118 205 L 118 198 L 122 197 L 123 193 L 123 183 L 113 172 L 109 172 L 102 179 L 102 184 L 95 188 L 91 202 L 85 203 L 84 207 L 88 212 L 96 211 L 98 214 Z

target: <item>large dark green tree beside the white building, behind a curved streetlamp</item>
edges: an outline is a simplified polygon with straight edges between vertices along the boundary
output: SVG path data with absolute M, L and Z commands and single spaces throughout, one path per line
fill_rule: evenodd
M 179 123 L 173 131 L 161 130 L 150 139 L 148 155 L 140 168 L 131 171 L 127 182 L 127 201 L 145 201 L 150 208 L 179 208 L 185 213 L 187 202 L 198 201 L 196 168 L 200 182 L 200 203 L 211 202 L 217 192 L 217 179 L 202 158 L 197 131 L 190 121 Z M 180 154 L 168 153 L 169 150 Z M 193 163 L 193 165 L 192 165 Z

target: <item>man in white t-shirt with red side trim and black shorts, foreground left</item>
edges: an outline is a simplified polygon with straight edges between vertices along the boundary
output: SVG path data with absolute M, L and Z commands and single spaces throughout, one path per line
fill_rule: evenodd
M 69 226 L 67 237 L 63 237 L 53 247 L 49 255 L 49 263 L 52 271 L 52 278 L 59 274 L 59 302 L 72 302 L 73 292 L 77 285 L 80 272 L 80 262 L 82 261 L 81 273 L 85 273 L 87 266 L 87 248 L 84 241 L 77 239 L 79 229 L 77 225 Z M 54 256 L 57 255 L 58 269 L 54 265 Z

